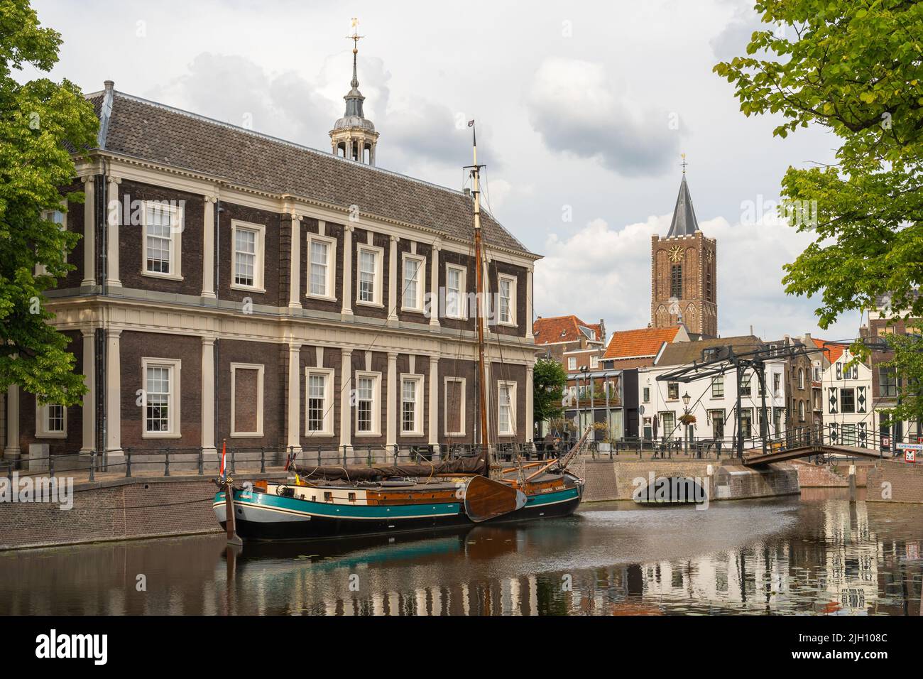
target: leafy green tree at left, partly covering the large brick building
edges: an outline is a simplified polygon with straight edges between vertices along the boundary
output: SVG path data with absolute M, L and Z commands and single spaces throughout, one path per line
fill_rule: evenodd
M 49 71 L 60 44 L 27 0 L 0 0 L 0 389 L 15 383 L 43 402 L 73 405 L 83 378 L 68 338 L 48 324 L 44 291 L 74 268 L 66 253 L 79 236 L 42 214 L 64 209 L 60 188 L 77 174 L 69 150 L 94 146 L 98 122 L 73 83 L 13 78 L 24 64 Z

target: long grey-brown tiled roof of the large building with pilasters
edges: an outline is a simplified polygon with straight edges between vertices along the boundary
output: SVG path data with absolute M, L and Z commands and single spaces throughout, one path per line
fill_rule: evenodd
M 87 96 L 101 115 L 104 92 Z M 244 127 L 114 91 L 100 148 L 157 164 L 225 179 L 235 185 L 317 200 L 468 241 L 473 200 L 388 170 L 339 158 Z M 459 164 L 465 159 L 460 158 Z M 481 208 L 485 242 L 528 253 Z

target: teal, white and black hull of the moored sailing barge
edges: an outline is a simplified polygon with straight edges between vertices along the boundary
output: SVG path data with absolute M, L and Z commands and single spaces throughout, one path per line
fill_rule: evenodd
M 581 486 L 571 486 L 533 495 L 521 509 L 483 523 L 567 516 L 580 505 L 581 494 Z M 223 492 L 215 495 L 212 507 L 218 522 L 226 527 Z M 460 502 L 348 506 L 246 491 L 234 491 L 234 516 L 237 535 L 243 540 L 322 540 L 475 525 Z

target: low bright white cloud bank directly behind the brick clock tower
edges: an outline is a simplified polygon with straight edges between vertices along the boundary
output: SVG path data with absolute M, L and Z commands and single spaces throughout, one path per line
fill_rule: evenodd
M 595 219 L 566 238 L 550 236 L 545 259 L 535 264 L 535 313 L 575 313 L 588 322 L 602 318 L 610 333 L 646 327 L 651 320 L 651 236 L 665 235 L 670 218 L 651 216 L 621 229 Z M 752 325 L 765 339 L 807 332 L 830 339 L 855 336 L 853 319 L 819 331 L 814 305 L 785 295 L 782 267 L 808 245 L 809 235 L 773 215 L 749 224 L 717 217 L 700 226 L 717 239 L 719 333 L 746 334 Z

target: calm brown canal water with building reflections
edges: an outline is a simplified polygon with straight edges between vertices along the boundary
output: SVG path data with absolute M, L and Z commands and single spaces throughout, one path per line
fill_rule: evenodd
M 2 552 L 0 613 L 920 615 L 921 544 L 923 505 L 843 491 L 705 511 L 594 503 L 423 539 Z

